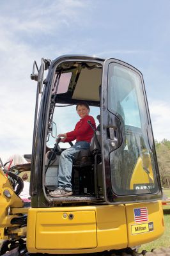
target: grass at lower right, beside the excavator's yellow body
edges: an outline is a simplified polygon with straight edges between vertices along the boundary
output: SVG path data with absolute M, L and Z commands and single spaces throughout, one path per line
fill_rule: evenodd
M 170 197 L 170 190 L 165 189 L 164 193 L 168 197 Z M 164 221 L 165 221 L 165 226 L 166 226 L 164 235 L 151 243 L 143 244 L 139 248 L 139 252 L 142 252 L 143 250 L 150 252 L 151 249 L 153 249 L 153 248 L 156 249 L 156 248 L 170 246 L 170 205 L 163 205 L 163 209 L 164 209 Z

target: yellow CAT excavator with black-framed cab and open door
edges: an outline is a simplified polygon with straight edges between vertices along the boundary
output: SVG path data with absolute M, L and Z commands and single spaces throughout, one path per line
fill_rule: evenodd
M 137 255 L 137 246 L 164 233 L 141 72 L 114 58 L 66 55 L 42 58 L 40 68 L 34 61 L 31 79 L 37 82 L 31 163 L 10 170 L 1 163 L 0 255 Z M 82 100 L 97 129 L 73 161 L 73 195 L 52 197 L 59 157 L 70 147 L 57 134 L 73 129 Z M 29 206 L 20 198 L 23 172 L 31 174 Z

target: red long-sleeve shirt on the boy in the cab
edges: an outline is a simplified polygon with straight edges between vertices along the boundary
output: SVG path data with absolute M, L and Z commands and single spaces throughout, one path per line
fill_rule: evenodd
M 72 132 L 66 132 L 65 142 L 70 142 L 76 139 L 76 141 L 87 141 L 90 142 L 93 137 L 94 131 L 88 124 L 88 120 L 91 122 L 93 127 L 96 129 L 95 119 L 93 116 L 85 116 L 81 118 L 75 125 L 75 129 Z

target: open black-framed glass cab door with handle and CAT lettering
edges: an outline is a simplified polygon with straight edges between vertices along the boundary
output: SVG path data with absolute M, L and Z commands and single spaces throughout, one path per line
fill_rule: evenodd
M 161 198 L 150 115 L 139 70 L 104 62 L 101 93 L 102 164 L 108 204 Z

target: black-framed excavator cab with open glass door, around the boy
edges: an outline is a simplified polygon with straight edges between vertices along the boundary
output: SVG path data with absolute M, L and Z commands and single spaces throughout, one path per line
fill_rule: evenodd
M 42 61 L 44 68 L 48 61 Z M 56 139 L 54 124 L 58 124 L 59 131 L 69 131 L 69 127 L 65 126 L 69 126 L 69 118 L 73 120 L 75 105 L 82 100 L 89 104 L 100 122 L 97 120 L 98 128 L 89 150 L 80 152 L 73 163 L 74 195 L 67 198 L 68 201 L 76 201 L 81 195 L 78 200 L 83 202 L 83 194 L 91 197 L 89 201 L 104 200 L 107 204 L 161 198 L 141 73 L 127 63 L 114 59 L 64 56 L 49 65 L 47 78 L 39 84 L 42 102 L 33 144 L 31 193 L 36 195 L 37 206 L 42 205 L 42 191 L 45 201 L 54 202 L 48 191 L 50 186 L 55 186 L 55 182 L 57 186 L 59 155 L 65 150 L 65 143 L 59 143 L 52 155 L 52 141 L 54 145 Z M 46 148 L 50 151 L 47 156 Z M 82 188 L 84 175 L 87 179 Z

